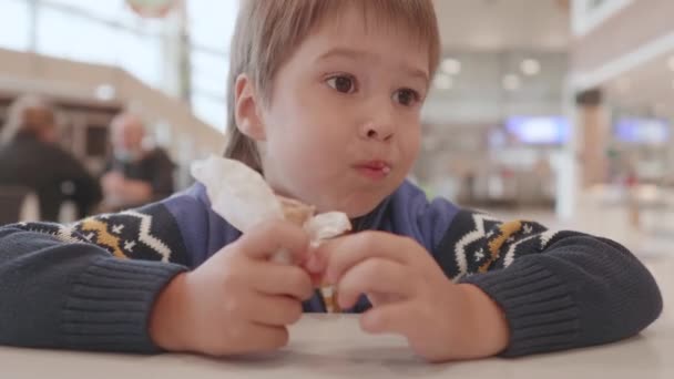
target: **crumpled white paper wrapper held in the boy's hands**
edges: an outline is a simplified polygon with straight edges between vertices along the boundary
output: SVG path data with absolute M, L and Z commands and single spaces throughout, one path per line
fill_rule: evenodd
M 314 215 L 315 208 L 292 198 L 276 196 L 264 177 L 245 164 L 211 155 L 192 165 L 192 176 L 206 187 L 213 211 L 232 226 L 247 233 L 273 219 L 287 219 L 307 231 L 312 245 L 351 229 L 346 214 L 330 212 Z M 277 252 L 273 260 L 293 264 L 287 252 Z M 338 311 L 331 287 L 320 288 L 328 311 Z

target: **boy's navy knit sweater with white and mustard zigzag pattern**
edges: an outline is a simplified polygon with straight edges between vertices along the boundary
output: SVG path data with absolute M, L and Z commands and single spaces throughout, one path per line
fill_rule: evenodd
M 621 245 L 428 202 L 410 183 L 354 225 L 416 239 L 448 278 L 487 293 L 510 326 L 506 356 L 623 339 L 662 310 L 653 277 Z M 239 235 L 211 211 L 200 184 L 73 225 L 0 227 L 0 344 L 157 351 L 147 319 L 159 293 Z M 348 311 L 369 306 L 361 297 Z M 316 296 L 305 310 L 325 306 Z

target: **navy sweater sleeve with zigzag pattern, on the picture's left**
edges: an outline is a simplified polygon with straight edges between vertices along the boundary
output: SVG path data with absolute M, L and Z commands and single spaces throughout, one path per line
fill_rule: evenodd
M 0 344 L 156 351 L 155 298 L 187 254 L 162 204 L 73 225 L 0 227 Z

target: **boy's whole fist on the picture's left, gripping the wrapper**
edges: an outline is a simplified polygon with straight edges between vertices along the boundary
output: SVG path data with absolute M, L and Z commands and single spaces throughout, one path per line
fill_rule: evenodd
M 314 287 L 298 265 L 269 262 L 282 248 L 294 262 L 304 262 L 309 237 L 290 223 L 266 223 L 177 275 L 154 304 L 152 340 L 165 350 L 212 356 L 285 346 L 286 326 L 302 317 L 302 301 Z

